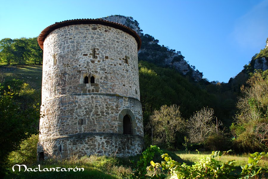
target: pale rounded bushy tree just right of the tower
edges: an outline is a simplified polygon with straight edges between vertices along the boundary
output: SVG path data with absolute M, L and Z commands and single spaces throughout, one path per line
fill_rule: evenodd
M 160 110 L 155 110 L 150 117 L 149 127 L 152 128 L 154 143 L 174 146 L 176 134 L 182 133 L 185 129 L 185 121 L 180 115 L 179 106 L 163 105 Z

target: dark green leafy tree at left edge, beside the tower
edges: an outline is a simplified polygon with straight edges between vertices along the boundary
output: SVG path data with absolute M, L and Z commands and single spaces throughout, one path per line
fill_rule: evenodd
M 7 154 L 18 147 L 21 139 L 38 133 L 39 93 L 19 80 L 0 84 L 0 166 L 3 166 Z

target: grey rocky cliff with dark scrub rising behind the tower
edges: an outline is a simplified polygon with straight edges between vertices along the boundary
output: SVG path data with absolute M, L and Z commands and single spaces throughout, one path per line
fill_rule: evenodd
M 132 17 L 125 17 L 123 15 L 111 15 L 102 18 L 107 21 L 121 23 L 125 26 L 135 30 L 141 37 L 142 45 L 138 52 L 138 59 L 152 62 L 163 67 L 171 67 L 176 69 L 183 75 L 188 75 L 194 78 L 195 81 L 202 79 L 203 73 L 195 70 L 194 66 L 190 66 L 180 51 L 169 49 L 164 45 L 159 45 L 158 40 L 149 34 L 143 34 L 139 27 L 139 23 Z

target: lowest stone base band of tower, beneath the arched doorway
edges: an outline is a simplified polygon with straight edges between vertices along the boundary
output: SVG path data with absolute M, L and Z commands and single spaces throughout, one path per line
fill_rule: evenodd
M 92 154 L 127 157 L 140 154 L 144 140 L 139 135 L 83 133 L 38 142 L 38 160 Z

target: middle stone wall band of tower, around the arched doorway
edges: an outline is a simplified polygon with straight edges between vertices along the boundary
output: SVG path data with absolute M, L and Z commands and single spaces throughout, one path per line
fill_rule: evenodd
M 123 120 L 119 114 L 129 109 L 133 134 L 143 136 L 141 103 L 135 98 L 116 95 L 66 95 L 42 103 L 40 140 L 84 132 L 123 134 Z

